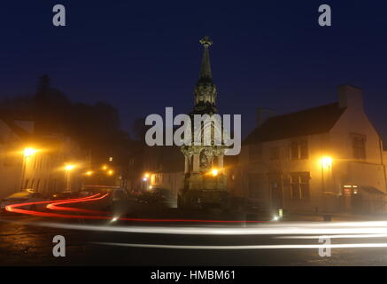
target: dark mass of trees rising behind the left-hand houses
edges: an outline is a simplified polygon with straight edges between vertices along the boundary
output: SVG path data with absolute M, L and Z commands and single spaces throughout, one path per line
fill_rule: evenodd
M 50 77 L 39 78 L 35 94 L 0 101 L 0 114 L 10 120 L 35 121 L 38 135 L 62 134 L 72 138 L 94 162 L 114 156 L 128 161 L 132 141 L 120 128 L 117 109 L 105 102 L 74 103 L 51 87 Z

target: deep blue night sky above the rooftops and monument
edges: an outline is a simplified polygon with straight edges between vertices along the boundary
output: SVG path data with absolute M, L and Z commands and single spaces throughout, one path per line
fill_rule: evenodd
M 52 25 L 54 4 L 66 27 Z M 318 25 L 330 4 L 332 27 Z M 387 4 L 382 1 L 2 1 L 0 97 L 35 91 L 36 78 L 74 101 L 103 100 L 136 117 L 193 106 L 202 47 L 222 114 L 242 114 L 244 135 L 258 106 L 279 114 L 337 100 L 337 85 L 364 91 L 366 111 L 387 143 Z

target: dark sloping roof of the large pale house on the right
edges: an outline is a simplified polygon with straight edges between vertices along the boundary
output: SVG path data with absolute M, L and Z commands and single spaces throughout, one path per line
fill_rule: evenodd
M 244 139 L 244 145 L 328 132 L 344 110 L 336 102 L 270 117 Z

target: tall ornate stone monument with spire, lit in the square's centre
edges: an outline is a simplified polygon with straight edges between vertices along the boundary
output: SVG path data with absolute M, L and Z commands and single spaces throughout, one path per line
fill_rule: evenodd
M 208 36 L 205 36 L 200 43 L 203 44 L 203 59 L 200 67 L 200 74 L 195 86 L 195 106 L 190 113 L 192 125 L 194 124 L 195 114 L 208 114 L 213 117 L 217 114 L 216 86 L 213 83 L 211 73 L 209 48 L 213 42 Z M 211 144 L 205 146 L 203 137 L 205 133 L 211 131 Z M 197 146 L 182 146 L 182 153 L 185 157 L 184 185 L 180 194 L 180 202 L 185 205 L 192 205 L 192 202 L 199 203 L 218 203 L 221 196 L 227 194 L 227 178 L 223 171 L 223 156 L 227 146 L 217 146 L 214 143 L 214 133 L 220 131 L 215 127 L 215 123 L 205 127 L 202 124 L 200 132 L 202 133 L 202 142 Z

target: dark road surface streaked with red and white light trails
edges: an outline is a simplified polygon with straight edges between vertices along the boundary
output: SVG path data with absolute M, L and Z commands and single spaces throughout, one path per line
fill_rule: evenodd
M 383 220 L 187 222 L 134 216 L 130 203 L 119 207 L 123 216 L 101 201 L 97 194 L 44 201 L 43 210 L 8 207 L 13 213 L 0 216 L 0 265 L 387 265 Z M 66 256 L 53 255 L 57 235 Z

